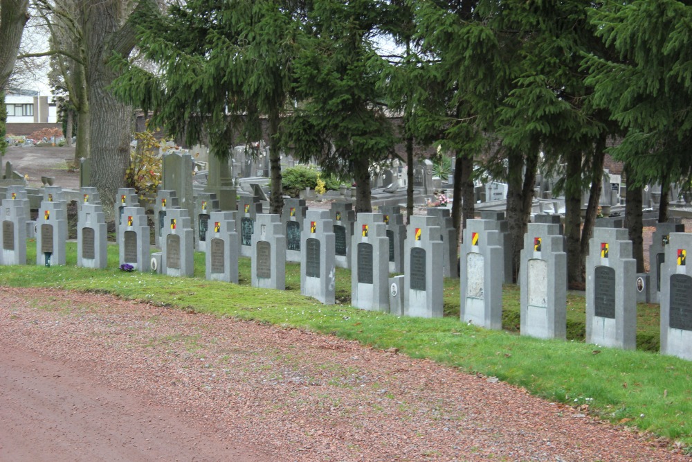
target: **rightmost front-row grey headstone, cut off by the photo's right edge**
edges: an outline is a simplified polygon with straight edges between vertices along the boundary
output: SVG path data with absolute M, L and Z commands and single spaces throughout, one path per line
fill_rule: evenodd
M 661 267 L 661 353 L 692 360 L 692 235 L 668 236 Z

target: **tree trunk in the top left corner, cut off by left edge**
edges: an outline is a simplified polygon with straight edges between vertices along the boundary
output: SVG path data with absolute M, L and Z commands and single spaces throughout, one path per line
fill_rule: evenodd
M 0 91 L 6 90 L 10 74 L 15 69 L 21 34 L 24 32 L 24 24 L 29 19 L 28 7 L 29 0 L 2 0 L 2 8 L 0 9 Z

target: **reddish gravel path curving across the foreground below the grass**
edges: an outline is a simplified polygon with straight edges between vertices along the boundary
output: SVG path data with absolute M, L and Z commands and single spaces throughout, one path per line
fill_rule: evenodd
M 111 296 L 0 287 L 0 338 L 3 461 L 690 461 L 431 361 Z

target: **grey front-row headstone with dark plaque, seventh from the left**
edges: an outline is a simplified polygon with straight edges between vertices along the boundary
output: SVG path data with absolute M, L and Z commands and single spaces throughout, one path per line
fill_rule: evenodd
M 252 285 L 286 289 L 286 235 L 279 215 L 260 213 L 252 242 Z

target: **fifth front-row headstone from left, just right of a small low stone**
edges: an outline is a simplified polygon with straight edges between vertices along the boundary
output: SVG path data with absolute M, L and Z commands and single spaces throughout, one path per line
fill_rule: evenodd
M 166 211 L 166 226 L 161 236 L 161 268 L 168 276 L 194 274 L 194 232 L 185 208 Z

